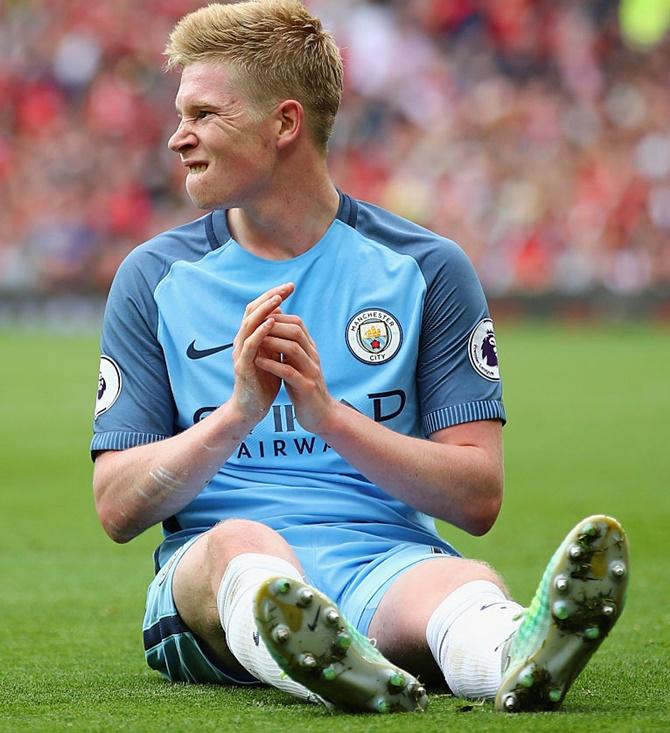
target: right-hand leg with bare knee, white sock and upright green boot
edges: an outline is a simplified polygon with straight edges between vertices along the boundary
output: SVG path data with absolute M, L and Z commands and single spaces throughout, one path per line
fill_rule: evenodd
M 486 566 L 433 559 L 389 588 L 370 634 L 426 679 L 439 666 L 454 694 L 495 697 L 509 712 L 552 710 L 619 617 L 627 578 L 625 534 L 597 515 L 568 533 L 528 609 L 506 599 Z

